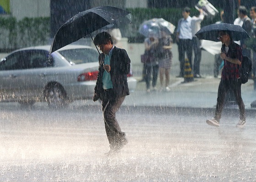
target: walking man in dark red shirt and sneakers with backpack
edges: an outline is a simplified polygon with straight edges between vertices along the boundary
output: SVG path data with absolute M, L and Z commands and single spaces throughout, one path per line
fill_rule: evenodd
M 220 31 L 219 40 L 223 43 L 220 57 L 224 60 L 224 67 L 219 83 L 215 116 L 206 122 L 211 126 L 219 126 L 225 96 L 230 89 L 230 91 L 234 92 L 240 111 L 240 120 L 236 126 L 243 127 L 245 126 L 245 105 L 241 97 L 241 80 L 239 76 L 239 67 L 242 63 L 242 48 L 232 40 L 229 31 Z

